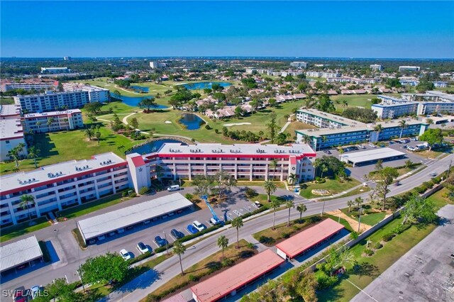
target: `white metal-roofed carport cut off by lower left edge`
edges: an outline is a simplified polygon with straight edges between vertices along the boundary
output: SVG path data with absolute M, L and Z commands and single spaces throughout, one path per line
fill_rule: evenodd
M 43 258 L 35 235 L 0 247 L 0 272 Z

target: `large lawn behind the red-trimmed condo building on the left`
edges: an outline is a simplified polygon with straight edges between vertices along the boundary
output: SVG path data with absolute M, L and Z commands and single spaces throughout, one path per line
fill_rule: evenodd
M 92 155 L 105 152 L 114 152 L 117 155 L 124 156 L 117 149 L 118 146 L 124 145 L 126 148 L 125 150 L 127 150 L 140 142 L 132 141 L 123 135 L 118 135 L 110 128 L 106 127 L 101 127 L 99 132 L 101 133 L 101 142 L 99 146 L 96 139 L 89 141 L 85 137 L 84 130 L 33 135 L 35 145 L 38 150 L 40 150 L 40 158 L 37 160 L 38 167 L 68 160 L 89 159 Z M 2 174 L 11 173 L 13 167 L 13 162 L 2 163 L 0 172 Z M 21 171 L 35 169 L 33 160 L 21 160 L 20 169 Z

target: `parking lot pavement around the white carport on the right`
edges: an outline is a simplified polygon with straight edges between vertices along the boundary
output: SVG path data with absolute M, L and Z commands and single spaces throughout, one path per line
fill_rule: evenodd
M 386 143 L 386 144 L 385 144 Z M 407 160 L 411 160 L 411 162 L 420 162 L 421 164 L 428 164 L 431 162 L 433 159 L 428 159 L 426 157 L 423 157 L 418 154 L 418 152 L 411 152 L 407 148 L 408 147 L 414 147 L 416 145 L 421 145 L 423 142 L 419 140 L 409 140 L 409 142 L 406 143 L 401 143 L 401 142 L 380 142 L 378 146 L 372 147 L 368 143 L 363 143 L 361 144 L 363 148 L 357 147 L 358 145 L 355 145 L 353 148 L 350 148 L 351 150 L 346 150 L 348 147 L 343 147 L 344 153 L 355 153 L 355 152 L 362 152 L 366 150 L 372 150 L 375 148 L 380 148 L 380 145 L 392 148 L 394 150 L 398 150 L 400 152 L 406 153 L 405 157 L 402 160 L 388 160 L 383 162 L 384 167 L 402 167 L 405 165 L 405 162 Z M 329 152 L 329 153 L 328 153 Z M 336 158 L 339 158 L 340 153 L 336 149 L 328 149 L 328 150 L 321 150 L 317 151 L 317 156 L 322 157 L 323 155 L 325 156 L 333 156 Z M 348 167 L 347 170 L 350 172 L 350 176 L 353 177 L 354 179 L 358 179 L 359 181 L 366 181 L 365 175 L 369 174 L 369 172 L 373 171 L 375 169 L 375 164 L 365 164 L 362 166 L 358 167 Z

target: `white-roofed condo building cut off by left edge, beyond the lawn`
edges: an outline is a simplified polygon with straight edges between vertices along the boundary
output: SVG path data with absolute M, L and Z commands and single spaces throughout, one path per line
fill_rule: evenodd
M 21 123 L 21 108 L 16 105 L 0 105 L 0 160 L 11 160 L 8 153 L 19 144 L 26 146 Z M 24 147 L 19 156 L 26 156 Z

